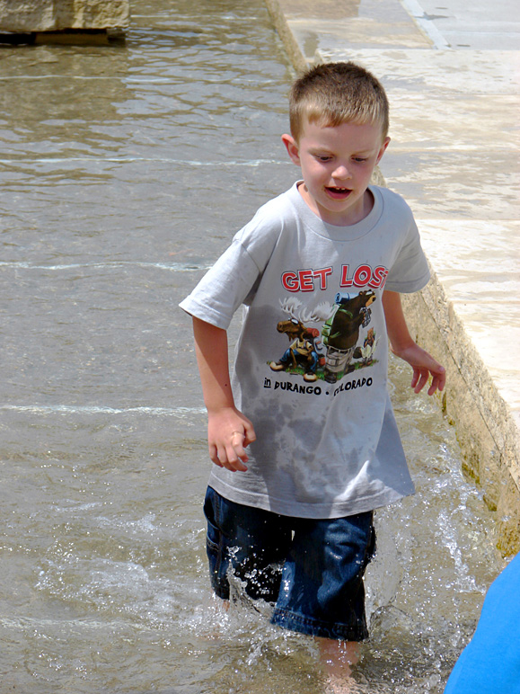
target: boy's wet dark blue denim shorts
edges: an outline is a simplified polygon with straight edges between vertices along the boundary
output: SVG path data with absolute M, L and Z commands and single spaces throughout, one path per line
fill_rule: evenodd
M 253 599 L 274 604 L 271 622 L 310 636 L 368 636 L 363 575 L 375 552 L 373 512 L 292 518 L 230 502 L 207 488 L 207 557 L 216 595 L 230 576 Z

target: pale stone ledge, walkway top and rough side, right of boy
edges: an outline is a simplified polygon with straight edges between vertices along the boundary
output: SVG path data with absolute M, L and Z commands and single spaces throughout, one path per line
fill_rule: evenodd
M 341 6 L 331 0 L 265 1 L 297 70 L 323 60 L 353 59 L 377 76 L 387 76 L 391 102 L 400 104 L 392 182 L 399 183 L 409 201 L 412 192 L 412 207 L 426 232 L 427 254 L 435 264 L 427 288 L 403 298 L 410 332 L 445 363 L 448 382 L 440 402 L 454 423 L 463 470 L 497 514 L 498 548 L 504 556 L 516 554 L 520 550 L 520 398 L 515 359 L 520 258 L 516 228 L 510 221 L 516 218 L 516 201 L 510 181 L 504 184 L 503 170 L 498 172 L 503 190 L 495 194 L 494 207 L 492 193 L 484 209 L 472 205 L 464 191 L 479 190 L 472 185 L 472 147 L 481 148 L 490 132 L 495 138 L 489 144 L 491 156 L 499 153 L 500 161 L 506 161 L 515 149 L 511 132 L 518 102 L 513 76 L 518 57 L 513 51 L 507 55 L 493 51 L 491 60 L 487 50 L 443 50 L 438 37 L 423 31 L 396 0 L 366 0 L 362 12 L 357 0 Z M 435 104 L 433 114 L 425 111 L 425 99 Z M 495 111 L 488 112 L 493 103 L 501 104 L 498 120 Z M 446 121 L 454 130 L 447 149 Z M 441 181 L 428 167 L 433 171 L 443 157 L 456 165 L 444 165 Z M 488 173 L 493 171 L 494 163 L 482 161 L 480 149 L 478 158 L 479 172 L 486 162 Z M 469 162 L 465 169 L 464 161 Z M 423 175 L 430 175 L 428 184 Z M 376 182 L 384 184 L 379 172 Z M 446 212 L 431 219 L 429 210 L 439 195 L 448 200 Z M 471 299 L 465 289 L 468 282 L 478 287 Z M 473 336 L 479 338 L 479 349 Z

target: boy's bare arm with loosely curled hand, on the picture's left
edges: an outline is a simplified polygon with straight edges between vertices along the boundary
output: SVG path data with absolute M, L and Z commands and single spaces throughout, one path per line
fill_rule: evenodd
M 207 407 L 209 457 L 219 467 L 245 471 L 246 447 L 256 440 L 249 419 L 234 406 L 229 378 L 227 333 L 193 317 L 198 371 Z

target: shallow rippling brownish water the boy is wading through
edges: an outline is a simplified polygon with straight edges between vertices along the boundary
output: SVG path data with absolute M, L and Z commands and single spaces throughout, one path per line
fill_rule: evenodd
M 312 641 L 207 580 L 177 308 L 297 174 L 261 0 L 135 0 L 124 45 L 0 49 L 0 691 L 318 694 Z M 442 692 L 502 563 L 454 431 L 392 361 L 418 493 L 377 512 L 359 691 Z

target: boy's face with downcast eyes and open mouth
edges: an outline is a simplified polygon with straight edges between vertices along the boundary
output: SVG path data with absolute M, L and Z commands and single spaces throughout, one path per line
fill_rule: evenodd
M 366 218 L 374 204 L 366 188 L 390 142 L 383 139 L 379 125 L 307 121 L 298 142 L 291 135 L 282 140 L 302 169 L 300 193 L 315 214 L 339 227 Z

